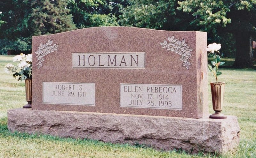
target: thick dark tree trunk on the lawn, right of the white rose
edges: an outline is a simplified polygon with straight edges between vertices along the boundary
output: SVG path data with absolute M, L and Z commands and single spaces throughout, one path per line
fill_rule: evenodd
M 252 35 L 250 33 L 236 33 L 236 60 L 233 64 L 237 68 L 252 67 Z

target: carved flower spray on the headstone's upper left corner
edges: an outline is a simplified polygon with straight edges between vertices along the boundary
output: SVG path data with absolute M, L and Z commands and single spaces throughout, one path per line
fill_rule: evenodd
M 44 61 L 44 56 L 46 56 L 49 53 L 54 52 L 55 50 L 58 50 L 57 48 L 59 47 L 59 45 L 56 45 L 56 43 L 53 43 L 53 40 L 47 40 L 46 43 L 44 44 L 40 44 L 40 46 L 38 46 L 38 49 L 35 51 L 36 53 L 36 58 L 37 58 L 37 69 L 39 69 L 40 67 L 43 66 L 42 62 Z

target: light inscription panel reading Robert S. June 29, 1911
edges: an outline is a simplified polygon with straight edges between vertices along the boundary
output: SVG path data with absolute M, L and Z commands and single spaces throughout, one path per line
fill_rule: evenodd
M 43 82 L 43 103 L 94 106 L 94 83 Z

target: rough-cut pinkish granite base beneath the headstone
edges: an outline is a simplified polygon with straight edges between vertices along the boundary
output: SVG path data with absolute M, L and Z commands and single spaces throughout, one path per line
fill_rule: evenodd
M 182 148 L 189 153 L 232 151 L 238 146 L 240 132 L 236 116 L 193 119 L 31 109 L 8 110 L 8 129 L 139 143 L 163 150 Z

